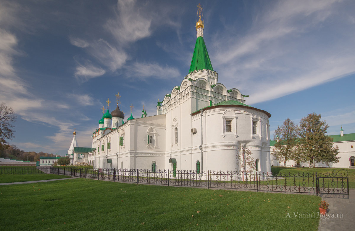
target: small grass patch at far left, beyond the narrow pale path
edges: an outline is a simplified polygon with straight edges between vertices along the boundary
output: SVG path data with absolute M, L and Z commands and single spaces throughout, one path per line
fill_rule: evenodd
M 28 175 L 0 174 L 0 183 L 24 182 L 24 181 L 34 181 L 34 180 L 50 180 L 50 179 L 61 179 L 61 178 L 70 178 L 70 176 L 52 175 L 52 174 L 28 174 Z

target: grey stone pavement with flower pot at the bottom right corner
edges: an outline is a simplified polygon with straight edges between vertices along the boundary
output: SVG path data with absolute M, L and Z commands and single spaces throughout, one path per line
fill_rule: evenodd
M 349 195 L 320 194 L 329 203 L 327 216 L 320 219 L 318 231 L 355 230 L 355 189 Z

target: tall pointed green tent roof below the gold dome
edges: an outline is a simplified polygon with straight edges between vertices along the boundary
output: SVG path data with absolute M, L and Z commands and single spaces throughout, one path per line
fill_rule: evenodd
M 200 36 L 196 39 L 195 50 L 193 50 L 189 73 L 203 69 L 213 71 L 206 45 L 204 44 L 203 37 Z

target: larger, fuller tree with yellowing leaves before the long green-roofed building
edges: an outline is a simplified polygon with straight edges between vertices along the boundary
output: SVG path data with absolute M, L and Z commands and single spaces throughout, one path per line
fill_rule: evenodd
M 315 112 L 303 117 L 299 125 L 300 159 L 309 161 L 310 168 L 315 162 L 337 163 L 339 161 L 338 148 L 333 147 L 333 139 L 327 136 L 326 121 L 321 121 L 321 114 Z

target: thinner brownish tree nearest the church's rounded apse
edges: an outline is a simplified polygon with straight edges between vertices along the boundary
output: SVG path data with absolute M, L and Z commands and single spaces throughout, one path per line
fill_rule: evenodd
M 272 154 L 278 162 L 283 160 L 284 166 L 286 166 L 287 160 L 296 159 L 297 130 L 298 126 L 290 118 L 285 119 L 281 127 L 278 126 L 275 130 L 274 140 L 276 143 Z

